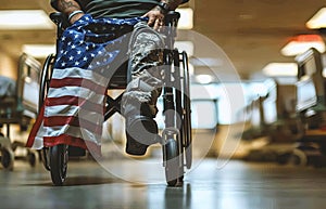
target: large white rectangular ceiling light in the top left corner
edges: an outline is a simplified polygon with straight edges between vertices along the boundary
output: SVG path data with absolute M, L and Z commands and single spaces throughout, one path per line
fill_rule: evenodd
M 54 24 L 42 10 L 2 10 L 0 29 L 52 29 Z

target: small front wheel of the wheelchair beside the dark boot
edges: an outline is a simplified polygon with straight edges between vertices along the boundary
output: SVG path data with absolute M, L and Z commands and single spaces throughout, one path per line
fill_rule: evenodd
M 168 186 L 176 186 L 179 183 L 180 178 L 179 160 L 178 160 L 178 148 L 177 142 L 174 139 L 167 140 L 165 146 L 165 179 Z

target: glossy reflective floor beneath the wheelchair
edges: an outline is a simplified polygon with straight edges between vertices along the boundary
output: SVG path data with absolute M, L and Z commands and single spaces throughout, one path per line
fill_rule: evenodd
M 326 208 L 326 169 L 243 161 L 221 166 L 216 159 L 204 159 L 186 174 L 183 186 L 167 187 L 155 166 L 114 165 L 111 174 L 93 161 L 71 161 L 65 186 L 55 187 L 41 164 L 30 168 L 15 161 L 14 171 L 0 170 L 0 208 Z M 151 181 L 139 183 L 143 173 Z

